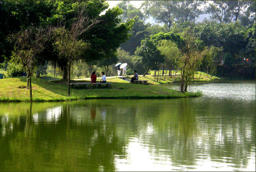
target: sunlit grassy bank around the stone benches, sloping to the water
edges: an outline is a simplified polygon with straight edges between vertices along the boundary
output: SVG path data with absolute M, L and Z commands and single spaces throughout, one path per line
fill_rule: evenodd
M 87 82 L 87 81 L 86 81 Z M 200 93 L 180 93 L 175 90 L 158 87 L 157 85 L 129 84 L 120 78 L 108 78 L 112 82 L 110 89 L 71 89 L 70 97 L 67 96 L 67 84 L 48 82 L 33 78 L 33 101 L 63 101 L 74 99 L 92 98 L 178 98 L 194 97 Z M 0 102 L 29 101 L 29 90 L 26 89 L 26 78 L 6 78 L 0 81 Z

